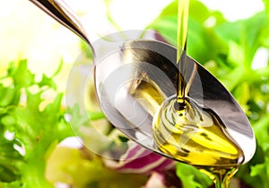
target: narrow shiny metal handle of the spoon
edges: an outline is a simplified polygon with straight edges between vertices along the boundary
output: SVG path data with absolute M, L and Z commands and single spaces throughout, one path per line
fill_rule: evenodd
M 78 16 L 63 0 L 30 0 L 30 2 L 36 4 L 42 11 L 48 13 L 48 15 L 64 25 L 67 29 L 74 31 L 74 33 L 87 42 L 92 49 L 91 42 L 86 36 L 86 31 L 82 27 Z

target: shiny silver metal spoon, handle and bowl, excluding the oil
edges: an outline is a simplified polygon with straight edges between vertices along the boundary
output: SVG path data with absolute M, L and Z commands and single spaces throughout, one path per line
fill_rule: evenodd
M 107 42 L 105 52 L 93 46 L 75 13 L 62 0 L 30 0 L 57 22 L 74 31 L 94 54 L 94 82 L 100 107 L 118 130 L 144 148 L 169 157 L 154 146 L 152 118 L 168 97 L 176 94 L 177 49 L 156 40 Z M 128 32 L 127 32 L 128 34 Z M 204 67 L 187 57 L 188 96 L 218 114 L 244 153 L 243 163 L 253 157 L 256 139 L 239 104 Z

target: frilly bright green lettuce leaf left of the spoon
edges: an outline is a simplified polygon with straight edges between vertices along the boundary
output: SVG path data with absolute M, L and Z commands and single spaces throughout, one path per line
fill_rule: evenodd
M 2 187 L 53 187 L 45 178 L 51 149 L 73 131 L 62 110 L 63 94 L 44 103 L 56 89 L 52 77 L 36 81 L 27 61 L 13 62 L 0 84 L 0 182 Z M 7 137 L 10 134 L 12 137 Z

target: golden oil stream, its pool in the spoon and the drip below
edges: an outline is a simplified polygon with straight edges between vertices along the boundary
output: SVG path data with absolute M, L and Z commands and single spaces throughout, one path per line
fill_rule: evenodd
M 154 114 L 153 138 L 163 153 L 196 166 L 217 188 L 228 188 L 244 154 L 218 115 L 187 96 L 192 85 L 192 79 L 184 79 L 188 6 L 189 0 L 178 0 L 178 94 L 169 97 Z

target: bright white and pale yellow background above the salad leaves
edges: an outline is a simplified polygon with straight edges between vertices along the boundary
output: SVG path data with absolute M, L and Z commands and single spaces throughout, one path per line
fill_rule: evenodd
M 262 1 L 211 1 L 201 0 L 210 9 L 220 10 L 224 16 L 235 21 L 246 18 L 264 9 Z M 98 33 L 117 31 L 108 21 L 109 12 L 121 30 L 143 30 L 157 17 L 171 0 L 65 0 L 81 17 L 92 40 Z M 80 49 L 80 41 L 71 31 L 41 12 L 34 4 L 25 0 L 10 0 L 1 6 L 0 57 L 1 63 L 17 58 L 27 58 L 34 72 L 51 73 L 60 58 L 65 64 L 74 63 Z

